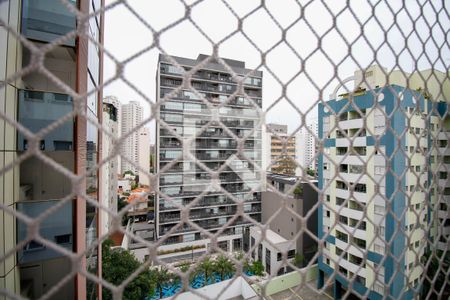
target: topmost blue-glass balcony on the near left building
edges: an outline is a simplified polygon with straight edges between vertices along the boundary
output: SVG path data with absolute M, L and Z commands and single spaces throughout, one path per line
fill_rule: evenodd
M 70 0 L 76 5 L 75 0 Z M 22 34 L 28 39 L 51 42 L 76 28 L 76 18 L 64 4 L 54 0 L 23 0 Z M 65 46 L 75 46 L 75 38 Z

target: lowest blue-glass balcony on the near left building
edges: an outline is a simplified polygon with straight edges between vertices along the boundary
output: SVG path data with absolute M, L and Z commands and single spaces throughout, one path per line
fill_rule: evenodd
M 36 218 L 54 207 L 60 200 L 21 201 L 16 209 L 31 218 Z M 73 245 L 73 204 L 66 202 L 40 223 L 39 234 L 49 242 L 72 251 Z M 23 241 L 27 236 L 27 225 L 17 220 L 17 241 Z M 37 241 L 30 241 L 18 251 L 19 264 L 39 262 L 63 257 L 64 255 Z

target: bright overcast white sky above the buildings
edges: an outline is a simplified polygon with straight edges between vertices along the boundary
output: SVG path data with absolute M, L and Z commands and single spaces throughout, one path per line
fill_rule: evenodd
M 106 0 L 118 4 L 105 14 L 105 81 L 116 74 L 114 61 L 126 62 L 124 77 L 154 102 L 159 53 L 195 59 L 212 54 L 220 43 L 221 57 L 263 71 L 263 109 L 270 108 L 266 123 L 287 124 L 290 133 L 301 125 L 299 112 L 307 114 L 307 122 L 317 120 L 318 101 L 328 100 L 339 81 L 357 69 L 376 63 L 388 71 L 448 71 L 450 65 L 448 1 L 411 0 L 405 6 L 399 0 L 389 1 L 390 6 L 385 1 L 349 1 L 349 6 L 347 1 L 323 1 L 325 6 L 321 1 L 266 0 L 269 14 L 257 9 L 257 0 L 129 0 L 142 21 L 119 2 Z M 188 20 L 185 4 L 194 2 Z M 244 16 L 238 30 L 238 18 Z M 144 22 L 156 32 L 164 30 L 159 43 Z M 155 45 L 160 49 L 151 48 Z M 105 87 L 104 95 L 122 103 L 139 101 L 148 117 L 150 105 L 134 87 L 118 79 Z M 154 122 L 147 126 L 154 143 Z

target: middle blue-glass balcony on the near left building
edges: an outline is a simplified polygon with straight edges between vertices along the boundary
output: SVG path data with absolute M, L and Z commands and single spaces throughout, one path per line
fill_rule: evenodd
M 73 110 L 69 95 L 19 90 L 18 119 L 33 133 L 46 128 Z M 43 151 L 73 151 L 73 126 L 70 120 L 49 132 L 40 142 Z M 17 149 L 28 149 L 28 141 L 18 132 Z

